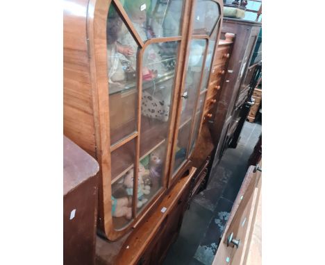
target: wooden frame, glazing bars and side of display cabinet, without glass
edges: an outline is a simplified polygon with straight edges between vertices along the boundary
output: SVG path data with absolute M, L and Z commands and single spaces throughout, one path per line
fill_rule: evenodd
M 190 147 L 187 149 L 185 162 L 176 173 L 172 173 L 176 150 L 176 139 L 181 117 L 181 94 L 184 89 L 185 71 L 190 53 L 190 40 L 206 40 L 206 50 L 203 55 L 202 69 L 208 52 L 210 35 L 198 35 L 192 33 L 194 7 L 199 0 L 183 1 L 183 18 L 181 19 L 181 35 L 176 37 L 159 37 L 147 41 L 142 40 L 135 30 L 131 19 L 118 0 L 75 0 L 65 1 L 64 10 L 64 133 L 76 144 L 81 146 L 90 155 L 95 157 L 100 165 L 99 181 L 99 219 L 98 226 L 102 234 L 110 240 L 119 239 L 131 228 L 137 227 L 144 216 L 154 210 L 154 206 L 162 200 L 163 195 L 171 189 L 176 180 L 190 172 L 192 163 L 190 160 Z M 222 24 L 221 0 L 210 0 L 217 3 L 219 8 L 219 19 L 213 25 L 211 33 L 217 27 L 215 45 L 219 40 Z M 137 127 L 135 132 L 122 138 L 119 142 L 111 145 L 110 141 L 110 102 L 109 83 L 107 76 L 107 46 L 106 46 L 106 23 L 108 19 L 108 8 L 115 5 L 117 12 L 128 28 L 139 46 L 137 53 Z M 133 164 L 134 182 L 133 187 L 138 187 L 138 164 L 140 162 L 140 138 L 141 128 L 141 100 L 142 100 L 142 55 L 147 46 L 161 42 L 178 41 L 178 52 L 175 67 L 174 85 L 171 94 L 171 109 L 167 125 L 165 164 L 163 169 L 163 185 L 152 197 L 152 200 L 143 207 L 142 212 L 136 216 L 137 192 L 133 192 L 132 216 L 133 220 L 124 228 L 115 230 L 113 228 L 111 185 L 112 164 L 111 153 L 131 141 L 135 142 L 135 160 Z M 214 47 L 215 50 L 215 47 Z M 203 74 L 199 81 L 201 83 Z M 200 92 L 206 93 L 207 89 Z M 199 102 L 199 96 L 195 102 L 195 108 Z M 194 137 L 194 115 L 193 110 L 190 139 L 188 146 Z M 203 110 L 199 119 L 199 129 Z M 198 134 L 197 134 L 198 135 Z M 194 139 L 196 139 L 194 137 Z M 132 165 L 132 164 L 131 164 Z M 135 190 L 135 188 L 133 189 Z

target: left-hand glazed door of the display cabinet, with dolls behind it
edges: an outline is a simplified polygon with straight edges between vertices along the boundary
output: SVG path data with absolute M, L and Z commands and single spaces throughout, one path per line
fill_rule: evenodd
M 128 227 L 166 189 L 183 3 L 113 0 L 108 10 L 110 185 L 115 230 Z M 152 43 L 146 44 L 149 40 Z

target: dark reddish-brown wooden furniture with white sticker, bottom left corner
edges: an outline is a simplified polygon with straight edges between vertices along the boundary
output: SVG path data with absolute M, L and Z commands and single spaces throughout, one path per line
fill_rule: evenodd
M 94 264 L 99 165 L 67 137 L 63 151 L 63 260 Z

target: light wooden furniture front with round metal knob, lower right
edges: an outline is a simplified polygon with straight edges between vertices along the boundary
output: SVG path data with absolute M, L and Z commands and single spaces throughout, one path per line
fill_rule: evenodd
M 245 180 L 250 180 L 244 194 L 239 193 L 231 212 L 231 217 L 219 243 L 217 255 L 213 265 L 242 265 L 248 264 L 249 246 L 256 220 L 258 203 L 260 202 L 261 178 L 260 171 L 255 166 L 250 166 Z M 246 186 L 247 181 L 242 186 Z M 253 265 L 253 264 L 249 264 Z M 255 265 L 255 264 L 254 264 Z M 257 264 L 256 264 L 257 265 Z

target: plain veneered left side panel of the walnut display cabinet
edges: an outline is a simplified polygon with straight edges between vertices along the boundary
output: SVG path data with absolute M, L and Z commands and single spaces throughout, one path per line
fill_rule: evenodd
M 87 0 L 64 1 L 63 133 L 95 156 L 94 119 L 86 33 Z

